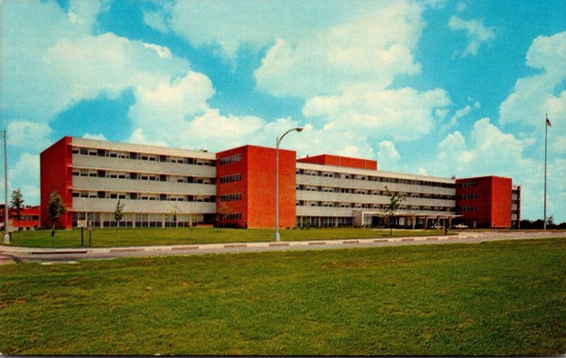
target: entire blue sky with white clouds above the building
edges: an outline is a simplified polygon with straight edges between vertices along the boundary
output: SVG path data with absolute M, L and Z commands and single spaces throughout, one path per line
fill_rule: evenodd
M 566 6 L 556 1 L 0 2 L 8 184 L 39 202 L 64 135 L 282 144 L 386 171 L 502 175 L 566 221 Z M 4 183 L 1 183 L 4 185 Z

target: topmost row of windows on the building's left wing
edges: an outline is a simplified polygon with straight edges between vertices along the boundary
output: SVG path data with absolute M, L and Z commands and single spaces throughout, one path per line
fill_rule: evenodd
M 71 149 L 73 154 L 81 154 L 85 156 L 105 156 L 108 158 L 134 159 L 141 161 L 160 161 L 165 163 L 190 164 L 194 166 L 216 166 L 216 161 L 202 158 L 180 157 L 180 156 L 164 156 L 156 154 L 144 154 L 135 151 L 113 151 L 109 149 L 92 149 L 74 147 Z

